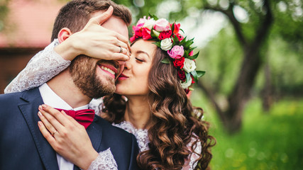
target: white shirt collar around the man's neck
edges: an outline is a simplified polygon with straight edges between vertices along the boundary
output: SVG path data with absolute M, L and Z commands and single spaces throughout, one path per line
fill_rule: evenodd
M 61 109 L 73 110 L 73 111 L 79 111 L 82 109 L 89 108 L 89 104 L 80 106 L 78 108 L 72 108 L 72 106 L 70 106 L 65 101 L 63 101 L 62 98 L 57 96 L 57 94 L 55 94 L 55 92 L 52 89 L 50 89 L 50 86 L 48 86 L 48 84 L 46 83 L 39 87 L 39 91 L 43 99 L 43 102 L 53 108 L 61 108 Z

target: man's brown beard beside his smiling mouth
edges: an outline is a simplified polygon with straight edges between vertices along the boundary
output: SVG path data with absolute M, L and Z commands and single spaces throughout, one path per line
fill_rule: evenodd
M 114 94 L 116 86 L 114 79 L 106 77 L 99 79 L 97 75 L 97 64 L 94 64 L 91 57 L 79 55 L 70 64 L 70 74 L 75 85 L 82 93 L 89 98 L 101 98 Z

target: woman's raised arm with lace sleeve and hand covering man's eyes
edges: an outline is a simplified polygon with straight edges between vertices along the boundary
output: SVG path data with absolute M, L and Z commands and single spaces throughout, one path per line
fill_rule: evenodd
M 91 18 L 87 25 L 66 40 L 54 40 L 45 50 L 38 52 L 25 69 L 6 86 L 4 93 L 25 91 L 40 86 L 70 65 L 78 55 L 87 55 L 103 60 L 129 59 L 128 39 L 100 26 L 112 13 L 112 7 L 99 16 Z M 123 53 L 120 53 L 120 47 Z

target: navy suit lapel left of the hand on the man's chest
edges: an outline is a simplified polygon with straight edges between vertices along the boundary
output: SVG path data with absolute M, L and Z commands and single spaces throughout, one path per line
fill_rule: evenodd
M 58 170 L 56 152 L 48 141 L 45 140 L 38 128 L 38 120 L 40 120 L 37 115 L 38 106 L 43 104 L 38 88 L 23 92 L 21 98 L 27 101 L 27 103 L 19 104 L 18 107 L 28 124 L 28 128 L 31 130 L 35 146 L 38 149 L 45 169 Z

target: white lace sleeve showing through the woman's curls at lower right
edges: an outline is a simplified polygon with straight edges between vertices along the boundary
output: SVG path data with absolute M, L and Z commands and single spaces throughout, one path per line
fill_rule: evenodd
M 191 150 L 192 144 L 194 143 L 195 140 L 196 139 L 192 137 L 192 140 L 187 145 L 187 148 L 189 148 L 189 150 Z M 182 170 L 194 170 L 194 168 L 197 166 L 198 163 L 196 162 L 196 160 L 199 159 L 199 154 L 196 153 L 201 153 L 201 152 L 202 152 L 202 145 L 201 142 L 199 141 L 194 146 L 194 152 L 192 152 L 192 154 L 189 154 L 189 159 L 185 161 Z

